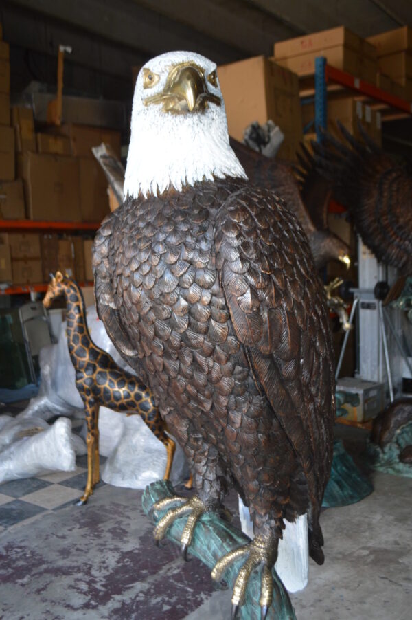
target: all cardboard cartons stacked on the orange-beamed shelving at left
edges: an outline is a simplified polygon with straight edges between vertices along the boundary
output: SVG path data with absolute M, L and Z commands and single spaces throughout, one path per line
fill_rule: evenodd
M 91 148 L 120 157 L 120 133 L 81 124 L 37 124 L 30 107 L 10 108 L 9 45 L 0 23 L 0 219 L 99 223 L 110 212 L 107 181 Z M 80 233 L 80 234 L 79 234 Z M 62 269 L 93 280 L 93 233 L 0 234 L 0 283 L 47 283 Z

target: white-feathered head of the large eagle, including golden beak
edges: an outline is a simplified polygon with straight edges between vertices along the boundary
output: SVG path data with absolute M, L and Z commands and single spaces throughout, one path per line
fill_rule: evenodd
M 137 77 L 124 195 L 247 178 L 229 146 L 216 65 L 192 52 L 149 60 Z

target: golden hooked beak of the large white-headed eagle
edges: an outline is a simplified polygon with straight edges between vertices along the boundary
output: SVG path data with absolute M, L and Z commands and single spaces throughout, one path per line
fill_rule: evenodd
M 163 103 L 163 112 L 183 114 L 204 111 L 208 101 L 221 104 L 220 98 L 209 92 L 203 69 L 190 63 L 172 67 L 163 92 L 143 102 L 145 105 Z

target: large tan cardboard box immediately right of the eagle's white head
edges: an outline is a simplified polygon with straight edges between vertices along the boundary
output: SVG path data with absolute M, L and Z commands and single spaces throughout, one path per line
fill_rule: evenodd
M 277 157 L 295 160 L 302 139 L 299 80 L 272 58 L 256 56 L 218 68 L 229 135 L 242 142 L 246 127 L 273 120 L 284 133 Z

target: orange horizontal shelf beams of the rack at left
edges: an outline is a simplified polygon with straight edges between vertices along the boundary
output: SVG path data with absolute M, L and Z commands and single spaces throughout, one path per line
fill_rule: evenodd
M 30 219 L 1 219 L 1 232 L 95 232 L 100 227 L 100 222 L 56 222 L 34 221 Z M 80 286 L 92 286 L 92 282 L 80 282 Z M 0 295 L 22 295 L 31 293 L 44 293 L 47 291 L 47 283 L 30 285 L 12 285 L 0 289 Z

